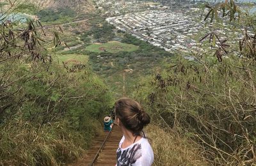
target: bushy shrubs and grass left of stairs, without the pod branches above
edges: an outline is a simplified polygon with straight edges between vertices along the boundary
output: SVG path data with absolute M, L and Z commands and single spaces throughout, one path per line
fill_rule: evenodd
M 27 77 L 8 89 L 19 92 L 1 101 L 12 100 L 0 116 L 1 162 L 58 165 L 76 159 L 101 129 L 97 119 L 113 102 L 108 89 L 88 68 L 67 73 L 55 64 L 48 71 L 40 64 L 15 64 L 13 79 Z

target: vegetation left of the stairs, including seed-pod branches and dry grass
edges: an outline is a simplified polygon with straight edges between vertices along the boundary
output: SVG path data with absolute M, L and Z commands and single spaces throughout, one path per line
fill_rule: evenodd
M 99 134 L 98 119 L 113 104 L 86 56 L 63 67 L 57 54 L 42 47 L 44 33 L 35 25 L 1 24 L 1 165 L 75 160 Z M 57 32 L 54 41 L 60 43 Z

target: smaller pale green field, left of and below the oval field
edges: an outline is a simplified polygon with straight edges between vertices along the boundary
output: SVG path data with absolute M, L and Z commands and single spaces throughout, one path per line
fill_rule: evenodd
M 60 55 L 56 58 L 56 61 L 59 61 L 60 64 L 63 62 L 68 66 L 72 64 L 86 64 L 88 62 L 88 56 L 79 54 Z

